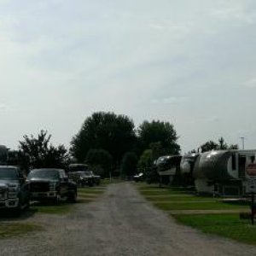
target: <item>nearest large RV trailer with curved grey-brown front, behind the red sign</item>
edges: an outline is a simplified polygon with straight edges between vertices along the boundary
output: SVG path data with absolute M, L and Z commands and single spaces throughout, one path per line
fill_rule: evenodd
M 195 189 L 201 194 L 245 195 L 247 166 L 256 150 L 216 150 L 201 153 L 195 160 Z

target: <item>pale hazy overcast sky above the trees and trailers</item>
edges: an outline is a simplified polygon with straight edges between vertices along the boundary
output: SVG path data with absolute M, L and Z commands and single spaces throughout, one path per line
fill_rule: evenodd
M 0 144 L 110 111 L 256 148 L 255 45 L 253 0 L 0 0 Z

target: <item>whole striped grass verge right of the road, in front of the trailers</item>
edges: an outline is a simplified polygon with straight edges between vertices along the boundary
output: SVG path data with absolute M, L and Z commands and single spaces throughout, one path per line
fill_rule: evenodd
M 182 188 L 157 188 L 145 184 L 136 187 L 148 201 L 168 212 L 179 224 L 186 224 L 207 234 L 256 245 L 256 225 L 252 225 L 250 219 L 241 219 L 239 216 L 240 211 L 249 212 L 248 202 L 227 202 L 221 198 L 195 195 L 193 191 L 189 194 L 189 191 Z M 190 210 L 195 210 L 195 213 L 189 212 Z M 202 211 L 199 214 L 196 210 L 208 212 Z M 222 212 L 225 210 L 231 212 Z

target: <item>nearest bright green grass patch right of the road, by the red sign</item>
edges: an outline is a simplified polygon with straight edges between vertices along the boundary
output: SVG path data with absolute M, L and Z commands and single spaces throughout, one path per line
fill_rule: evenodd
M 256 245 L 256 225 L 250 224 L 250 219 L 240 219 L 238 214 L 178 215 L 175 218 L 205 233 Z

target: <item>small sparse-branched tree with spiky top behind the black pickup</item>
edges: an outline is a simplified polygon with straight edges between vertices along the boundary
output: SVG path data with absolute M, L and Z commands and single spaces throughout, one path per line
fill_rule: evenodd
M 21 166 L 27 171 L 32 168 L 63 168 L 68 160 L 67 149 L 63 145 L 54 147 L 47 131 L 40 131 L 38 137 L 25 135 L 20 141 Z

